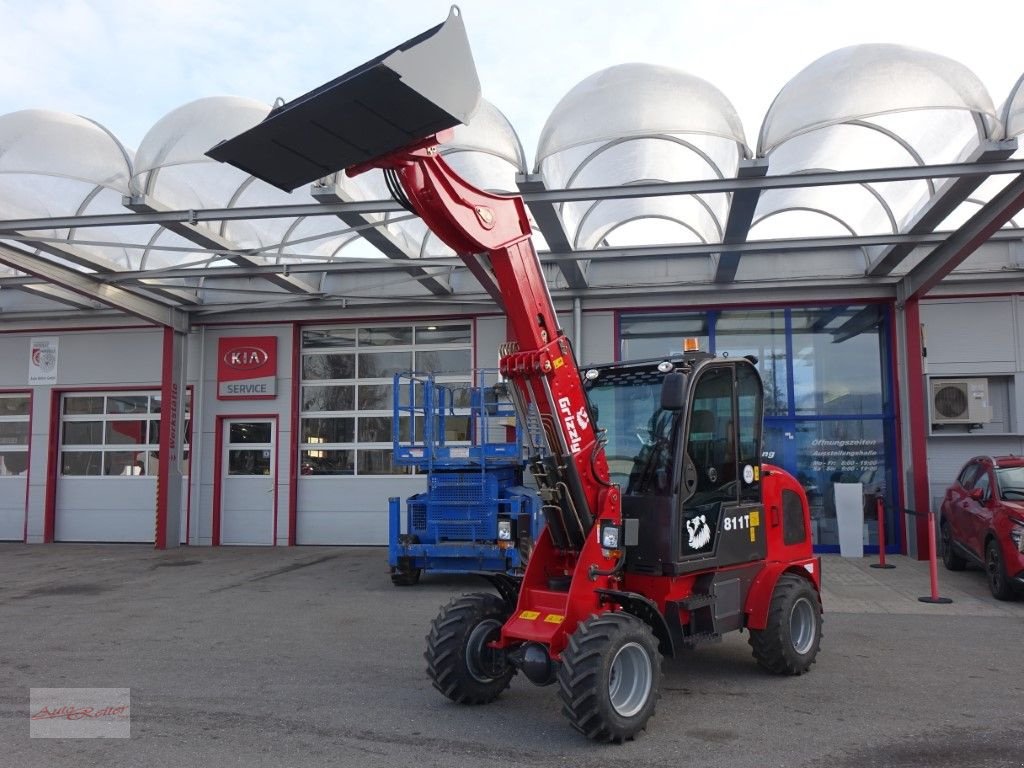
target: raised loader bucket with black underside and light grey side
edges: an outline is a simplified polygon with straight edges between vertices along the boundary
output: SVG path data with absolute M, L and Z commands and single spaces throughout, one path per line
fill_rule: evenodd
M 207 155 L 291 191 L 469 122 L 480 81 L 459 8 Z

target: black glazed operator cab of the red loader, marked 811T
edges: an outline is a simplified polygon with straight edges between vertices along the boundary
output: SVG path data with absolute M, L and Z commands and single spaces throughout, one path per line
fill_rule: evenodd
M 765 556 L 763 388 L 752 360 L 689 353 L 588 370 L 623 517 L 626 569 L 679 574 Z M 632 526 L 631 526 L 632 527 Z

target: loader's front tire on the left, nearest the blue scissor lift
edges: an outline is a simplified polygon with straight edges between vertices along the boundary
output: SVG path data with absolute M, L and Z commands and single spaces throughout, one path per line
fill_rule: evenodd
M 513 668 L 505 651 L 488 648 L 509 615 L 498 595 L 457 597 L 437 614 L 427 635 L 427 675 L 434 687 L 458 703 L 494 701 L 509 687 Z

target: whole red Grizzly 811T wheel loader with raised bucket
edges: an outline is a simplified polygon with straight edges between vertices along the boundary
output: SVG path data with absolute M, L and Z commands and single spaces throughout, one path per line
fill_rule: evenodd
M 557 684 L 579 731 L 618 742 L 653 715 L 663 655 L 745 630 L 765 670 L 807 672 L 821 641 L 820 560 L 803 488 L 761 461 L 756 360 L 685 349 L 581 371 L 522 199 L 475 188 L 438 152 L 479 98 L 453 8 L 208 153 L 286 190 L 382 169 L 508 316 L 500 368 L 520 419 L 543 424 L 529 468 L 546 524 L 521 579 L 481 574 L 495 592 L 456 598 L 433 621 L 434 686 L 486 703 L 521 672 Z

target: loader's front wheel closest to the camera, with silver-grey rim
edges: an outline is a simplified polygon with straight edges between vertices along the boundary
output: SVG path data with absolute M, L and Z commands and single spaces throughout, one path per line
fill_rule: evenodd
M 650 627 L 629 613 L 593 615 L 580 623 L 562 651 L 562 714 L 587 738 L 632 739 L 654 714 L 660 679 Z

